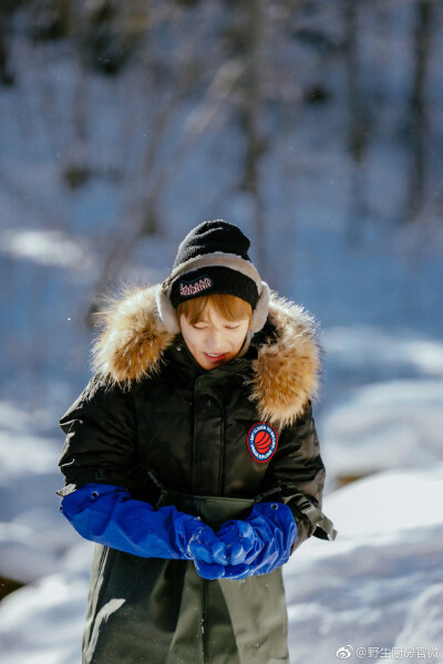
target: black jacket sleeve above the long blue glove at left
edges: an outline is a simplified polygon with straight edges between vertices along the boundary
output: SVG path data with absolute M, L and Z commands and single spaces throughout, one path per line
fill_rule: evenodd
M 93 376 L 60 419 L 66 434 L 59 466 L 68 495 L 89 483 L 127 486 L 136 463 L 133 400 L 119 386 Z

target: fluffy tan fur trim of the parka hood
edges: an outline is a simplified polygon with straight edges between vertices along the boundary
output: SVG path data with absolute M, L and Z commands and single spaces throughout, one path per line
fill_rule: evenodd
M 92 349 L 92 369 L 111 383 L 130 388 L 134 381 L 157 373 L 175 339 L 158 315 L 156 288 L 126 288 L 95 314 L 101 331 Z M 258 345 L 248 381 L 250 398 L 261 419 L 284 427 L 317 394 L 320 349 L 313 319 L 301 307 L 271 293 L 268 320 L 277 340 Z

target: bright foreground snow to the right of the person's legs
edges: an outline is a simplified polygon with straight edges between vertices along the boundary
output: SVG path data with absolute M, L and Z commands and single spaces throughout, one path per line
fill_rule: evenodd
M 350 662 L 406 649 L 410 661 L 443 662 L 442 505 L 442 464 L 327 497 L 339 538 L 309 540 L 285 568 L 292 664 L 333 662 L 348 646 Z

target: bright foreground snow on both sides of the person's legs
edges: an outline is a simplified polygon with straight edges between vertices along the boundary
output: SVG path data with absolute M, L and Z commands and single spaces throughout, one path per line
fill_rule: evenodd
M 371 649 L 443 662 L 442 504 L 443 464 L 326 498 L 338 540 L 312 538 L 285 568 L 291 664 L 334 662 L 349 647 L 350 662 L 375 658 Z M 91 551 L 78 539 L 52 574 L 1 602 L 4 664 L 79 663 Z

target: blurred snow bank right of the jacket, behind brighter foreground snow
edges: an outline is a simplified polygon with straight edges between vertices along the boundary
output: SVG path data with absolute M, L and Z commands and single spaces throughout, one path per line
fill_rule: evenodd
M 333 477 L 425 467 L 443 458 L 443 381 L 394 380 L 353 387 L 322 419 Z

